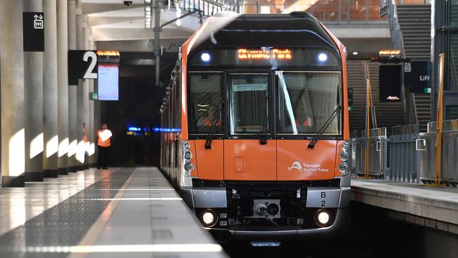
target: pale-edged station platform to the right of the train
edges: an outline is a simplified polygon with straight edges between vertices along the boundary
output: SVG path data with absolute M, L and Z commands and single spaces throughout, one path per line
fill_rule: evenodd
M 458 188 L 352 178 L 352 201 L 387 209 L 387 215 L 458 234 Z

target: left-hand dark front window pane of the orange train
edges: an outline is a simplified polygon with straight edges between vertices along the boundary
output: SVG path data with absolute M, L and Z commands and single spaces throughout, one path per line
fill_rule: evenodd
M 223 73 L 191 73 L 190 75 L 190 133 L 223 133 L 221 119 L 221 80 Z M 213 125 L 213 126 L 212 126 Z

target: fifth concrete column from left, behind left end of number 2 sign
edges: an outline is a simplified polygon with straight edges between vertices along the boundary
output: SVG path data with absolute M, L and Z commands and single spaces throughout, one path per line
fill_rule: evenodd
M 68 49 L 76 50 L 76 1 L 68 0 Z M 76 149 L 78 146 L 76 128 L 76 88 L 68 87 L 68 172 L 76 172 Z

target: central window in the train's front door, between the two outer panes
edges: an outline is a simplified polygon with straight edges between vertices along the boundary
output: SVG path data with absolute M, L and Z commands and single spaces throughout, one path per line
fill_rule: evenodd
M 268 133 L 268 75 L 230 76 L 230 134 Z

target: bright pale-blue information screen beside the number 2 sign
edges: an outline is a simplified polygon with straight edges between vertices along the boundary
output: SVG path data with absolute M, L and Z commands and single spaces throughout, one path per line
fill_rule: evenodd
M 99 100 L 119 100 L 119 69 L 99 64 Z

